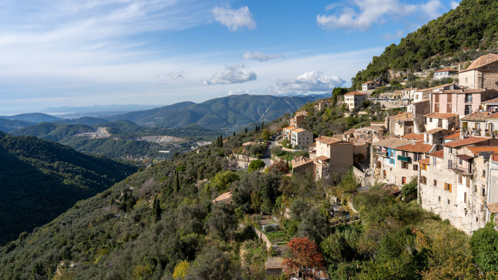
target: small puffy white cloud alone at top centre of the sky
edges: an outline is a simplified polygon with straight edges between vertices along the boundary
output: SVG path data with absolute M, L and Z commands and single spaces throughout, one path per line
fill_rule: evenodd
M 231 9 L 227 7 L 215 7 L 212 9 L 214 20 L 225 25 L 231 31 L 239 29 L 253 29 L 256 27 L 256 22 L 253 19 L 252 13 L 249 11 L 248 6 L 243 6 L 238 9 Z

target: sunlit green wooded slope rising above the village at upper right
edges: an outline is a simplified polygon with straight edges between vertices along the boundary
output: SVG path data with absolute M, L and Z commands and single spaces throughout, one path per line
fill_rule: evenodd
M 411 71 L 439 68 L 476 59 L 497 50 L 498 2 L 462 0 L 458 7 L 408 34 L 397 45 L 374 56 L 365 70 L 352 79 L 353 89 L 379 78 L 387 70 Z

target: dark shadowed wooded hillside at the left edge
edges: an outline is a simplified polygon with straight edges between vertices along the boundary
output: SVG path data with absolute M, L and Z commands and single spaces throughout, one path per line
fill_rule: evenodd
M 35 137 L 0 134 L 0 244 L 16 239 L 136 171 Z

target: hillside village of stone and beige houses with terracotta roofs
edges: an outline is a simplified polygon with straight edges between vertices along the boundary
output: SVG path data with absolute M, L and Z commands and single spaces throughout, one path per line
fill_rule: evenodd
M 458 83 L 394 92 L 406 112 L 342 135 L 313 139 L 300 128 L 309 112 L 296 112 L 282 136 L 296 148 L 308 147 L 309 157 L 293 159 L 292 172 L 318 179 L 353 166 L 363 186 L 386 183 L 393 195 L 414 180 L 422 208 L 472 235 L 498 213 L 498 55 L 481 56 L 466 69 L 434 71 L 433 78 L 457 75 Z M 368 81 L 339 106 L 353 111 L 377 87 Z M 330 105 L 322 100 L 314 108 Z

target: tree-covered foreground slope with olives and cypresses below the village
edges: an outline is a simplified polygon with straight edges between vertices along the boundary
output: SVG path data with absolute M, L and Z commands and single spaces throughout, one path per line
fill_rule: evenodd
M 352 172 L 315 181 L 282 176 L 282 164 L 262 172 L 230 171 L 226 155 L 262 133 L 241 133 L 200 153 L 178 155 L 79 201 L 4 246 L 0 278 L 263 280 L 266 258 L 279 254 L 267 253 L 250 229 L 263 215 L 278 217 L 281 230 L 267 235 L 279 247 L 288 244 L 288 264 L 302 262 L 292 248 L 307 244 L 313 265 L 326 269 L 331 279 L 497 276 L 497 266 L 481 257 L 495 249 L 480 240 L 471 243 L 416 201 L 395 200 L 380 185 L 358 192 Z M 233 203 L 213 204 L 229 190 Z M 344 205 L 350 201 L 360 220 L 333 226 L 338 220 L 330 216 L 326 193 L 341 197 Z M 281 216 L 285 208 L 290 218 Z M 477 234 L 489 240 L 488 228 Z

